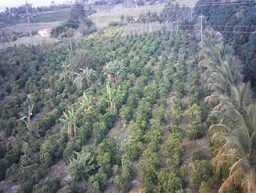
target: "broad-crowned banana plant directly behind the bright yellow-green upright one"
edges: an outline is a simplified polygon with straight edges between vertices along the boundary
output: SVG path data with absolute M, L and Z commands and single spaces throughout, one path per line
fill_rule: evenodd
M 110 61 L 103 67 L 103 73 L 107 75 L 109 81 L 116 82 L 122 72 L 124 72 L 124 65 L 120 61 Z

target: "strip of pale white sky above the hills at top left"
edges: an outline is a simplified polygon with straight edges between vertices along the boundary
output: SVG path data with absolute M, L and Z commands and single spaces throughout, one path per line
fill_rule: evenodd
M 42 6 L 51 4 L 52 0 L 27 0 L 32 6 Z M 5 10 L 6 7 L 20 6 L 25 4 L 26 0 L 0 0 L 0 12 Z M 64 3 L 65 0 L 54 0 L 55 4 Z

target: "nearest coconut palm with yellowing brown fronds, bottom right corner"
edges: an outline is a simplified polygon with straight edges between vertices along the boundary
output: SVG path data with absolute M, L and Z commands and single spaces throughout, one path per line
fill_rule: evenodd
M 220 150 L 212 162 L 217 171 L 222 166 L 229 167 L 229 176 L 220 187 L 219 192 L 225 192 L 232 187 L 241 187 L 244 192 L 256 192 L 256 105 L 244 109 L 244 115 L 236 111 L 232 117 L 234 124 L 211 125 L 212 141 L 222 143 Z

